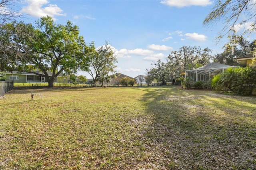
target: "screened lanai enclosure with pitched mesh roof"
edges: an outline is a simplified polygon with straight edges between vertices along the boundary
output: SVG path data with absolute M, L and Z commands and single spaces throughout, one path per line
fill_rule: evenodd
M 214 75 L 220 73 L 221 71 L 224 71 L 225 69 L 228 69 L 229 67 L 235 67 L 235 66 L 225 65 L 220 63 L 209 63 L 197 69 L 186 70 L 185 79 L 186 77 L 190 77 L 190 80 L 192 82 L 204 81 L 204 82 L 210 83 L 210 79 Z

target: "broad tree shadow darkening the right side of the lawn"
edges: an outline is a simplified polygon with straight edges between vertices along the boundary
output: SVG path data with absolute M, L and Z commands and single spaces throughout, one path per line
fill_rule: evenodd
M 164 168 L 256 169 L 256 98 L 148 88 L 144 142 Z

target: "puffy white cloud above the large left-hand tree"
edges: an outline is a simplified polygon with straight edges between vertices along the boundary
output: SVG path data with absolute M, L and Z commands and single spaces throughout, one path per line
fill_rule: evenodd
M 63 10 L 59 8 L 56 4 L 49 4 L 48 0 L 26 0 L 28 6 L 22 8 L 21 12 L 29 14 L 35 17 L 42 16 L 51 16 L 53 20 L 56 20 L 54 16 L 66 16 L 66 14 L 62 14 Z M 47 5 L 46 7 L 43 7 Z

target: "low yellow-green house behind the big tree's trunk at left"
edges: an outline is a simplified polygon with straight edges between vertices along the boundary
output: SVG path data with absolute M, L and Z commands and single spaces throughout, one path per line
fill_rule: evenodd
M 36 71 L 36 73 L 40 73 L 39 71 Z M 22 72 L 19 73 L 18 71 L 13 71 L 12 73 L 5 72 L 6 75 L 6 81 L 13 81 L 14 83 L 44 83 L 47 82 L 45 77 L 41 75 L 36 75 L 34 73 L 28 73 L 28 72 Z M 48 71 L 48 75 L 52 75 L 50 71 Z M 63 76 L 61 73 L 57 76 L 57 78 L 54 80 L 54 83 L 68 83 L 68 77 Z

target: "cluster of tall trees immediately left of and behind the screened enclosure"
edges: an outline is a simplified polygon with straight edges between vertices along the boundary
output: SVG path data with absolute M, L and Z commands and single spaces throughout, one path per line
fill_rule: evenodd
M 147 69 L 147 75 L 161 85 L 183 76 L 186 69 L 196 69 L 209 63 L 212 56 L 211 49 L 182 46 L 179 51 L 172 51 L 166 62 L 158 60 L 154 67 Z

